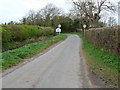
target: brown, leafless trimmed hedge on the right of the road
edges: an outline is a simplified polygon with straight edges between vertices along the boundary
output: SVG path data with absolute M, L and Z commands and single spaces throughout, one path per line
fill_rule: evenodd
M 92 28 L 85 32 L 88 41 L 120 56 L 120 26 Z

